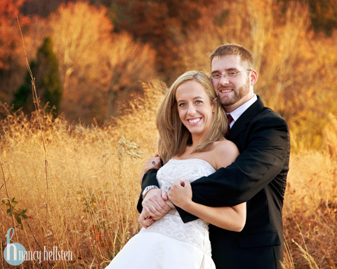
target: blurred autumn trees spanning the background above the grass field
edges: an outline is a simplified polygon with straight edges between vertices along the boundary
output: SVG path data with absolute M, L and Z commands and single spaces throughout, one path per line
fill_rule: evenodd
M 1 0 L 0 102 L 34 111 L 26 54 L 42 107 L 100 125 L 143 95 L 142 83 L 209 74 L 210 53 L 239 43 L 293 150 L 319 149 L 336 130 L 336 28 L 336 0 Z

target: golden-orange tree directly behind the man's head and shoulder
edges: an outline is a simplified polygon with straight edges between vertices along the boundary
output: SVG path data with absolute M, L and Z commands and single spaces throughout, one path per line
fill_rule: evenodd
M 310 30 L 310 7 L 298 1 L 238 0 L 224 3 L 218 14 L 223 17 L 205 18 L 201 30 L 187 35 L 181 48 L 187 69 L 209 72 L 214 48 L 242 44 L 256 62 L 254 91 L 288 121 L 293 151 L 318 149 L 324 126 L 337 115 L 337 32 L 317 36 Z

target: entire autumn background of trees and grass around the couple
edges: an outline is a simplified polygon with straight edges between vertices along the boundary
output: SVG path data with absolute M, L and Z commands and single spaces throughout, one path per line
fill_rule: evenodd
M 290 126 L 283 268 L 337 268 L 336 40 L 336 0 L 0 0 L 0 253 L 13 227 L 74 254 L 22 268 L 105 268 L 139 230 L 167 86 L 239 43 Z

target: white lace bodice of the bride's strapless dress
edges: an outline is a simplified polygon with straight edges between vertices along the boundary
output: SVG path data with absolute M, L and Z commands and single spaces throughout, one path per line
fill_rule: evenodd
M 178 179 L 188 179 L 192 182 L 215 171 L 209 163 L 201 159 L 171 159 L 158 170 L 157 180 L 161 189 L 169 191 L 169 188 Z M 193 244 L 205 251 L 206 254 L 211 255 L 208 224 L 201 219 L 183 223 L 177 210 L 171 209 L 159 221 L 154 221 L 147 229 L 140 230 L 140 233 L 161 233 L 176 240 Z

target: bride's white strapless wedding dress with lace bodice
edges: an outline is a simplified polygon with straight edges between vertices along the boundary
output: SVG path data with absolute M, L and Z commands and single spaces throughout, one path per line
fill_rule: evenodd
M 160 188 L 178 179 L 191 182 L 216 170 L 200 159 L 169 160 L 157 173 Z M 211 258 L 209 223 L 201 219 L 183 223 L 176 209 L 129 240 L 107 266 L 108 269 L 215 269 Z

